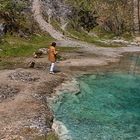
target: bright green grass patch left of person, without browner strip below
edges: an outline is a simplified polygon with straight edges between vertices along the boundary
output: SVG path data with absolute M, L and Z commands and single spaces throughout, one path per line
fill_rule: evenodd
M 39 48 L 46 48 L 54 41 L 50 36 L 34 35 L 29 39 L 6 36 L 5 43 L 0 44 L 0 57 L 28 57 Z

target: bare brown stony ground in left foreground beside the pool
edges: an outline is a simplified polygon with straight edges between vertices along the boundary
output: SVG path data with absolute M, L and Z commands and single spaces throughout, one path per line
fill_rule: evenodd
M 0 71 L 0 139 L 32 140 L 51 130 L 53 113 L 47 97 L 64 80 L 35 69 Z

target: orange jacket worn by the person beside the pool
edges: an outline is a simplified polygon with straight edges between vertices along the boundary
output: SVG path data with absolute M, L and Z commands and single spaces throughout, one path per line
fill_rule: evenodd
M 57 54 L 57 51 L 56 51 L 55 47 L 50 46 L 49 49 L 48 49 L 48 59 L 49 59 L 49 61 L 54 63 L 56 61 L 56 54 Z

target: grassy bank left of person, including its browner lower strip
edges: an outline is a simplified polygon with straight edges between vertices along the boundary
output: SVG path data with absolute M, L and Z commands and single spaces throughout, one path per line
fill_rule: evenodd
M 29 38 L 7 35 L 0 43 L 0 69 L 24 67 L 25 58 L 32 57 L 39 48 L 47 48 L 54 41 L 49 35 L 33 35 Z

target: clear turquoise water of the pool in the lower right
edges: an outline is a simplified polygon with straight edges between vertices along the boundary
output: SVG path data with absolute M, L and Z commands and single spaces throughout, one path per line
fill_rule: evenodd
M 78 81 L 81 92 L 64 93 L 54 105 L 72 140 L 140 140 L 140 75 L 84 75 Z

